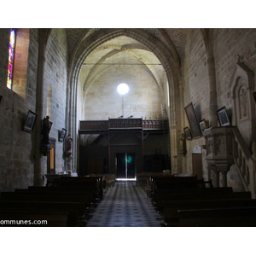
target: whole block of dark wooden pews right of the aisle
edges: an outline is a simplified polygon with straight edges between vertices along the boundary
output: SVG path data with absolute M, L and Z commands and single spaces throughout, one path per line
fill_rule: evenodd
M 147 197 L 166 227 L 255 227 L 256 200 L 251 192 L 213 188 L 197 177 L 152 175 Z

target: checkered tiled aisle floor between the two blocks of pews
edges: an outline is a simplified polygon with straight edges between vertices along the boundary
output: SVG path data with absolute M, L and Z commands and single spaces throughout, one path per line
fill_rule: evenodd
M 87 227 L 161 227 L 160 215 L 135 182 L 116 182 L 92 212 Z

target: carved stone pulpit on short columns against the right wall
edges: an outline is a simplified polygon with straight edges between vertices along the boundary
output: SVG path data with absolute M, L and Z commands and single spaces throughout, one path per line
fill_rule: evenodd
M 234 164 L 232 127 L 212 127 L 203 132 L 206 138 L 206 160 L 214 187 L 227 186 L 227 172 Z

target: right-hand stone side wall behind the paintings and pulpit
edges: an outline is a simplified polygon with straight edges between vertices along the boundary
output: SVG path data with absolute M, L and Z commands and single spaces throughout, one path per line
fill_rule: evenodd
M 202 34 L 198 29 L 189 29 L 185 39 L 185 58 L 183 60 L 184 107 L 192 102 L 198 120 L 209 119 L 209 76 L 207 71 L 207 51 Z M 213 55 L 216 72 L 217 108 L 225 106 L 232 121 L 234 114 L 232 88 L 230 79 L 237 61 L 237 55 L 253 73 L 256 71 L 256 31 L 255 29 L 214 29 Z M 254 77 L 255 84 L 255 77 Z M 255 87 L 254 87 L 255 90 Z M 253 102 L 255 110 L 255 104 Z M 185 124 L 189 125 L 184 113 Z M 195 145 L 204 145 L 205 139 L 187 141 L 188 154 L 184 166 L 192 172 L 191 154 Z M 204 160 L 205 149 L 202 149 L 203 177 L 208 179 L 207 163 Z M 240 180 L 236 168 L 232 168 L 228 183 Z M 236 184 L 236 187 L 239 187 Z

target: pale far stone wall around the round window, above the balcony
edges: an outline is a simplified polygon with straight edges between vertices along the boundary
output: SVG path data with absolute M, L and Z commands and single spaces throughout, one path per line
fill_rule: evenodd
M 132 60 L 131 60 L 132 62 Z M 119 83 L 130 90 L 125 96 L 117 92 Z M 86 91 L 84 114 L 81 119 L 161 118 L 160 88 L 148 71 L 141 66 L 109 67 Z

